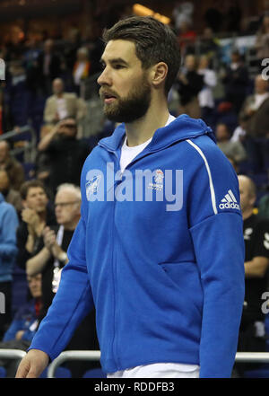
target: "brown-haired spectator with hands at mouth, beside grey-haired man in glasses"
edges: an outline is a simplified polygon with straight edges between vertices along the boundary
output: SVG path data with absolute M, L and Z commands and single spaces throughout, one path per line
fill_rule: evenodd
M 56 224 L 56 219 L 48 206 L 48 195 L 41 181 L 23 183 L 21 195 L 23 210 L 22 222 L 17 231 L 17 264 L 25 269 L 26 261 L 37 250 L 45 226 Z

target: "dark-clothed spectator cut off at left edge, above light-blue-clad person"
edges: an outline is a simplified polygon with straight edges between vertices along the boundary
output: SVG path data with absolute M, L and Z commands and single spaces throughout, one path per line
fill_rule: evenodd
M 15 160 L 10 153 L 10 145 L 6 140 L 0 141 L 0 170 L 7 172 L 10 188 L 20 190 L 25 180 L 22 163 Z

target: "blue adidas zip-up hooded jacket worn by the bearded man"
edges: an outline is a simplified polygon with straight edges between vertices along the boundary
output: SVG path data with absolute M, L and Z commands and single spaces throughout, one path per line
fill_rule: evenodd
M 95 304 L 104 372 L 171 362 L 229 377 L 245 284 L 237 175 L 201 119 L 157 129 L 122 174 L 124 136 L 84 163 L 69 262 L 30 348 L 54 359 Z

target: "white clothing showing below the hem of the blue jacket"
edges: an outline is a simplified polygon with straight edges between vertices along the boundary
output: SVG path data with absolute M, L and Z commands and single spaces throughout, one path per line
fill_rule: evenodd
M 199 378 L 199 365 L 154 363 L 137 365 L 126 370 L 108 373 L 107 378 Z

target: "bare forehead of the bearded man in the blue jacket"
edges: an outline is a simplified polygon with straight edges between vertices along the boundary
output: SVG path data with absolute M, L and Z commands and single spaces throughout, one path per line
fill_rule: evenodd
M 135 53 L 135 44 L 129 40 L 110 40 L 101 57 L 104 61 L 123 59 L 126 62 L 138 60 Z

